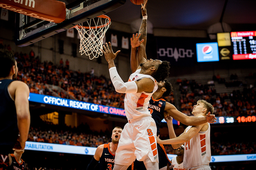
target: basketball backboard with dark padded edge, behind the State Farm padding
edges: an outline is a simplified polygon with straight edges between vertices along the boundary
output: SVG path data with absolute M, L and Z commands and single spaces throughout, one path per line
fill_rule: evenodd
M 66 19 L 60 23 L 16 14 L 15 44 L 19 47 L 31 45 L 59 32 L 68 30 L 89 19 L 106 14 L 126 0 L 60 0 L 66 4 Z

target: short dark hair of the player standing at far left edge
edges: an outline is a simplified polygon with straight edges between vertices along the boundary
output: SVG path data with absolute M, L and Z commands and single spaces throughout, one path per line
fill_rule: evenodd
M 6 49 L 0 49 L 0 77 L 8 77 L 14 65 L 15 58 L 13 53 Z

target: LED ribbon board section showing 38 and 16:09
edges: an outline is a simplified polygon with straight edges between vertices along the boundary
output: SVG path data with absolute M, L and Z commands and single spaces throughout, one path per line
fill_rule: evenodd
M 247 122 L 255 122 L 256 116 L 221 116 L 216 117 L 216 123 L 247 123 Z

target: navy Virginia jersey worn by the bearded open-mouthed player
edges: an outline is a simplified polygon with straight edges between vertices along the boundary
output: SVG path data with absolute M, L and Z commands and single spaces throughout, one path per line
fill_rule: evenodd
M 104 149 L 100 158 L 99 169 L 110 170 L 115 165 L 115 155 L 110 152 L 109 143 L 104 144 Z

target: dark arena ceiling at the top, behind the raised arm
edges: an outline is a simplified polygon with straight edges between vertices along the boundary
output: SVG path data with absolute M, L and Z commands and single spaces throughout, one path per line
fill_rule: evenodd
M 256 30 L 255 7 L 255 0 L 148 0 L 147 11 L 154 28 L 207 30 L 223 22 L 231 31 L 253 31 Z M 129 25 L 140 18 L 141 9 L 140 5 L 126 0 L 107 15 L 112 21 Z

